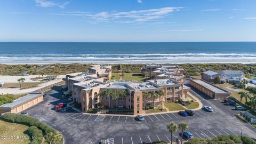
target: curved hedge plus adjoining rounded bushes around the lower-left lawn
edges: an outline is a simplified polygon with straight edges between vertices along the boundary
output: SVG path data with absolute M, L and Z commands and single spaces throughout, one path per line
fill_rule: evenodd
M 37 118 L 19 114 L 4 114 L 1 120 L 9 123 L 17 123 L 29 126 L 26 133 L 29 136 L 30 143 L 41 144 L 45 139 L 48 143 L 63 143 L 63 135 L 52 127 L 40 122 Z

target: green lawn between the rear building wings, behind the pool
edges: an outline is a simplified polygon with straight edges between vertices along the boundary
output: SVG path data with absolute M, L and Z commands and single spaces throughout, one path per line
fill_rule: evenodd
M 116 80 L 120 79 L 119 73 L 112 73 L 111 79 L 116 79 Z M 145 82 L 148 78 L 143 77 L 140 74 L 125 73 L 123 79 L 128 81 Z

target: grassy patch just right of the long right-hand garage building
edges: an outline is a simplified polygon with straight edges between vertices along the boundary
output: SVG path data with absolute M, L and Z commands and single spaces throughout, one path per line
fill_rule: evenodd
M 240 94 L 238 92 L 243 91 L 243 92 L 248 92 L 247 90 L 244 89 L 231 89 L 230 87 L 233 87 L 234 85 L 231 84 L 216 84 L 217 86 L 221 87 L 222 89 L 225 89 L 229 92 L 231 92 L 231 95 L 233 95 L 234 98 L 240 101 Z M 245 99 L 242 100 L 243 103 L 245 103 Z

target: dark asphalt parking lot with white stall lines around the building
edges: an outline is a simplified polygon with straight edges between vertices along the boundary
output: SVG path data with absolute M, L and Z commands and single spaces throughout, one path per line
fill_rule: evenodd
M 221 134 L 243 135 L 254 137 L 256 130 L 249 124 L 239 121 L 235 115 L 239 111 L 223 106 L 220 100 L 207 97 L 194 90 L 193 93 L 204 105 L 214 108 L 213 113 L 197 110 L 194 116 L 182 117 L 178 113 L 145 116 L 145 121 L 138 122 L 134 117 L 98 116 L 78 113 L 74 110 L 60 113 L 53 106 L 67 99 L 59 100 L 58 90 L 46 92 L 44 101 L 26 110 L 30 116 L 36 117 L 54 129 L 60 131 L 66 143 L 98 143 L 101 139 L 112 139 L 114 143 L 151 143 L 154 141 L 170 142 L 171 135 L 166 130 L 170 122 L 189 124 L 189 131 L 198 138 L 214 138 Z M 180 130 L 174 133 L 179 139 Z

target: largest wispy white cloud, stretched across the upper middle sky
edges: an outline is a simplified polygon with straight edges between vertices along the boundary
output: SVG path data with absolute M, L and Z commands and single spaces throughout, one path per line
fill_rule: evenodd
M 61 13 L 52 13 L 54 15 L 72 15 L 72 16 L 81 16 L 83 18 L 89 18 L 94 21 L 113 21 L 120 23 L 131 23 L 131 22 L 145 22 L 155 19 L 165 18 L 170 15 L 172 12 L 183 9 L 183 7 L 162 7 L 160 9 L 149 9 L 149 10 L 139 10 L 139 11 L 129 11 L 129 12 L 61 12 Z

